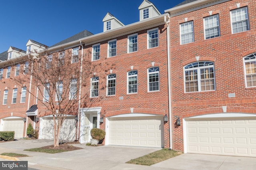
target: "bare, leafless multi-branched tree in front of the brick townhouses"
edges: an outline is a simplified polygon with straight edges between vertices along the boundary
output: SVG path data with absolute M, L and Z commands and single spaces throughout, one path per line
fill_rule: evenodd
M 29 54 L 23 74 L 14 76 L 14 80 L 20 86 L 26 86 L 28 92 L 53 115 L 54 147 L 59 146 L 60 129 L 66 116 L 76 115 L 79 101 L 90 98 L 90 92 L 79 95 L 81 88 L 90 86 L 90 78 L 101 68 L 101 64 L 92 63 L 91 53 L 82 54 L 81 49 L 76 53 L 67 49 Z

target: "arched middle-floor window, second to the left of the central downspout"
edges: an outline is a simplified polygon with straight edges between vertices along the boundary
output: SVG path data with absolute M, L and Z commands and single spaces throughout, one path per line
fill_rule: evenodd
M 127 73 L 127 93 L 137 93 L 138 92 L 138 71 L 133 70 Z

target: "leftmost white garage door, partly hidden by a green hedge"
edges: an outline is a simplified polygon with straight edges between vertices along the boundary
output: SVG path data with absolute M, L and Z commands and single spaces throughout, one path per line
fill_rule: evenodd
M 24 130 L 23 118 L 16 119 L 2 119 L 1 120 L 1 131 L 14 131 L 14 138 L 22 138 Z

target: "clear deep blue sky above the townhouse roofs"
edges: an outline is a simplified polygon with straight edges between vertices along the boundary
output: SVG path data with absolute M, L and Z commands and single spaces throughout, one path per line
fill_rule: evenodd
M 150 0 L 164 13 L 184 0 Z M 26 50 L 28 39 L 54 45 L 84 29 L 103 31 L 102 19 L 110 12 L 124 25 L 139 21 L 143 0 L 2 0 L 0 53 L 10 46 Z

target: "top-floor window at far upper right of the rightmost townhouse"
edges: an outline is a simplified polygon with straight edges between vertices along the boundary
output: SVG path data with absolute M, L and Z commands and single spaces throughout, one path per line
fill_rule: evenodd
M 230 11 L 230 16 L 232 33 L 239 33 L 250 29 L 247 6 Z

